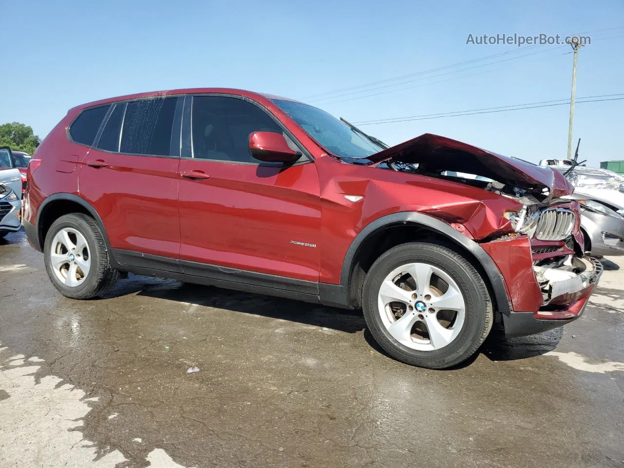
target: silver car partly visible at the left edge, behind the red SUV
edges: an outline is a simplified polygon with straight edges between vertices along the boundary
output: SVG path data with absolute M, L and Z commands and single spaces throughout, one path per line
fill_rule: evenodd
M 21 228 L 22 178 L 13 167 L 11 149 L 0 147 L 0 238 Z

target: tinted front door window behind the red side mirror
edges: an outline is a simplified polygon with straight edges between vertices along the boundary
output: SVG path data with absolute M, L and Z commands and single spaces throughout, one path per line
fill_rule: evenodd
M 280 125 L 264 110 L 235 97 L 193 97 L 192 114 L 196 158 L 258 163 L 249 151 L 249 134 L 283 134 Z

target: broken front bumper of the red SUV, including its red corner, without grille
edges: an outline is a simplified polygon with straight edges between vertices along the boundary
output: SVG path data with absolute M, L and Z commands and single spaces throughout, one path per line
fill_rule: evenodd
M 527 236 L 482 246 L 507 286 L 512 312 L 502 314 L 502 325 L 508 337 L 540 333 L 577 319 L 602 275 L 600 261 L 565 247 L 552 258 L 534 262 Z

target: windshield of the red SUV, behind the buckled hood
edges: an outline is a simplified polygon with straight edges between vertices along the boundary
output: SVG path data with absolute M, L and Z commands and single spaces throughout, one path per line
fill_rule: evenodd
M 324 110 L 291 100 L 273 99 L 273 102 L 319 145 L 338 157 L 366 158 L 381 151 L 366 137 Z

